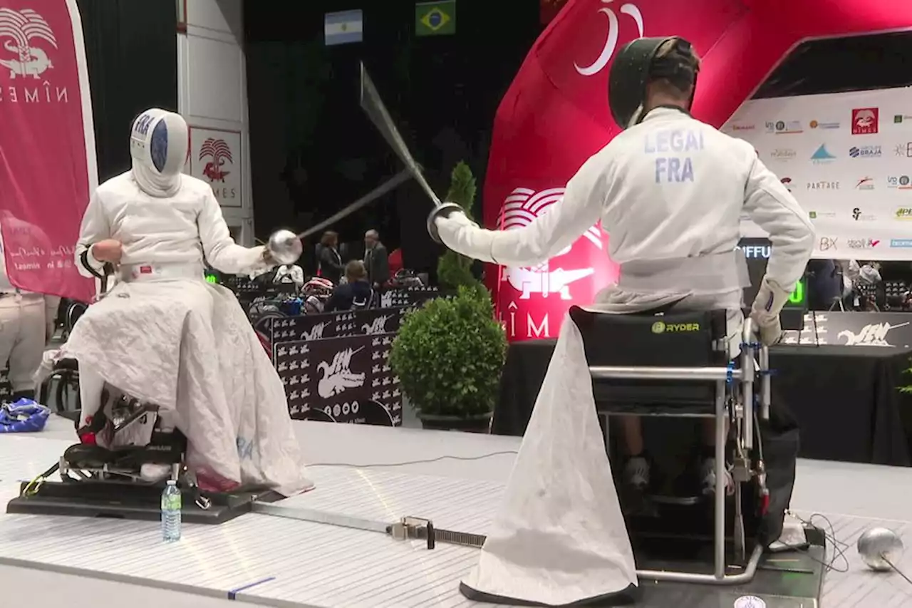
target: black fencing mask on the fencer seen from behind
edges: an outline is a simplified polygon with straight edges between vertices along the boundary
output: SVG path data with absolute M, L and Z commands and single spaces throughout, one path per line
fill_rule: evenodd
M 657 57 L 659 49 L 674 41 L 670 52 Z M 646 117 L 646 88 L 650 81 L 664 79 L 676 88 L 697 89 L 697 62 L 690 43 L 679 37 L 637 38 L 617 54 L 608 74 L 608 105 L 621 129 L 627 129 Z

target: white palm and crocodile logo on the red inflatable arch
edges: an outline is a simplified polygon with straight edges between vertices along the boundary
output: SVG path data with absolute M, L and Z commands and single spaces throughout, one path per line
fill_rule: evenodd
M 558 204 L 564 198 L 565 188 L 548 188 L 535 192 L 529 188 L 516 188 L 503 201 L 501 209 L 500 226 L 502 230 L 514 230 L 525 225 L 530 225 L 536 217 L 544 215 L 552 205 Z M 583 238 L 599 249 L 602 244 L 602 228 L 600 225 L 590 227 L 583 234 Z M 570 252 L 573 246 L 567 246 L 558 252 L 563 256 Z M 501 280 L 510 283 L 510 286 L 522 292 L 520 299 L 530 299 L 534 293 L 547 298 L 551 294 L 560 295 L 561 299 L 573 299 L 570 285 L 581 278 L 595 274 L 595 268 L 551 268 L 551 262 L 544 262 L 534 267 L 510 267 L 503 269 Z

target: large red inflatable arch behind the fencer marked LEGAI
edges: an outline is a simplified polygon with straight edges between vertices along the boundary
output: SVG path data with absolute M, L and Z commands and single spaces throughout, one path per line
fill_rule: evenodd
M 619 131 L 607 105 L 608 69 L 634 38 L 680 36 L 703 58 L 693 114 L 720 127 L 793 47 L 912 26 L 894 0 L 569 0 L 523 62 L 497 110 L 485 225 L 528 224 Z M 547 264 L 489 272 L 510 340 L 554 337 L 565 311 L 617 278 L 595 226 Z

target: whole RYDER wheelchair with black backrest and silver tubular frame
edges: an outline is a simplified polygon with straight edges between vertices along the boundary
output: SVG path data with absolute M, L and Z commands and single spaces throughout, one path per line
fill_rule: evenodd
M 655 570 L 637 570 L 639 578 L 712 585 L 751 582 L 763 550 L 779 534 L 763 529 L 770 492 L 759 427 L 769 419 L 770 368 L 769 351 L 753 337 L 751 320 L 744 321 L 741 354 L 732 361 L 725 310 L 617 315 L 574 307 L 570 316 L 583 335 L 609 457 L 613 415 L 710 418 L 715 421 L 717 483 L 724 483 L 731 465 L 733 496 L 713 493 L 711 524 L 709 509 L 697 499 L 662 504 L 666 497 L 647 497 L 657 499 L 659 513 L 665 508 L 662 517 L 657 512 L 626 515 L 637 568 L 644 561 L 660 564 Z M 623 494 L 619 495 L 623 505 Z M 692 518 L 695 530 L 681 529 L 681 522 L 689 521 L 681 517 L 682 509 L 688 508 L 707 516 Z M 781 529 L 782 520 L 778 523 Z M 775 524 L 767 528 L 774 529 Z M 765 538 L 770 534 L 772 539 Z M 679 561 L 669 567 L 668 560 L 657 561 L 652 555 L 644 560 L 637 550 L 658 539 L 653 546 L 666 551 L 684 537 L 699 537 L 703 548 L 711 545 L 711 572 L 679 568 Z M 730 560 L 737 573 L 727 568 Z

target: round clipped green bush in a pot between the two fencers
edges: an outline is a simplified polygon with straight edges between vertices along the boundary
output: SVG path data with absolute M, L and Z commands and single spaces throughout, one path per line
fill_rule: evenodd
M 432 299 L 399 328 L 389 364 L 420 417 L 491 414 L 507 340 L 483 288 Z

